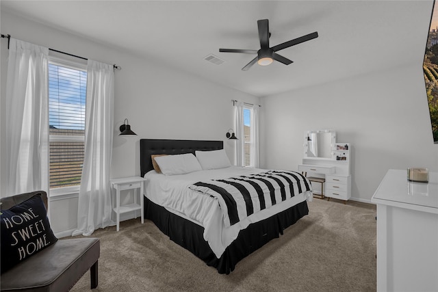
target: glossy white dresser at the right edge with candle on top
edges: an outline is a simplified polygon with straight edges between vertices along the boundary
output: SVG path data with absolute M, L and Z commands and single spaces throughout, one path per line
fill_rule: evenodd
M 377 204 L 377 291 L 438 291 L 438 172 L 428 183 L 389 170 Z

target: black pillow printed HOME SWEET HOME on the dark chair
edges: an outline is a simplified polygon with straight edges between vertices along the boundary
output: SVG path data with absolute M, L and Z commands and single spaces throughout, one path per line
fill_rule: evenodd
M 57 241 L 39 194 L 2 210 L 0 224 L 2 274 Z

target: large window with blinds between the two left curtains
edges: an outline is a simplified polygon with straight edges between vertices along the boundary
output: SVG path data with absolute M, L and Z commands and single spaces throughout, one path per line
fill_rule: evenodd
M 86 107 L 86 66 L 49 61 L 50 188 L 81 183 Z

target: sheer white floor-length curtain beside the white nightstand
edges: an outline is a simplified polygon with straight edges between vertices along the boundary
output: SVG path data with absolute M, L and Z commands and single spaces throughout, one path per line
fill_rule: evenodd
M 110 186 L 113 120 L 114 68 L 89 59 L 85 157 L 73 235 L 91 235 L 97 228 L 114 225 Z

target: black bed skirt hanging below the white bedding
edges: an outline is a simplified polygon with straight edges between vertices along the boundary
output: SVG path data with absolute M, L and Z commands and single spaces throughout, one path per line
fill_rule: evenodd
M 220 258 L 216 258 L 203 237 L 203 227 L 144 197 L 144 218 L 154 222 L 170 240 L 201 258 L 207 265 L 215 267 L 220 274 L 229 274 L 242 258 L 261 248 L 271 239 L 279 238 L 285 228 L 308 213 L 307 202 L 304 201 L 265 220 L 250 224 L 244 230 L 240 230 L 237 239 L 227 247 Z

